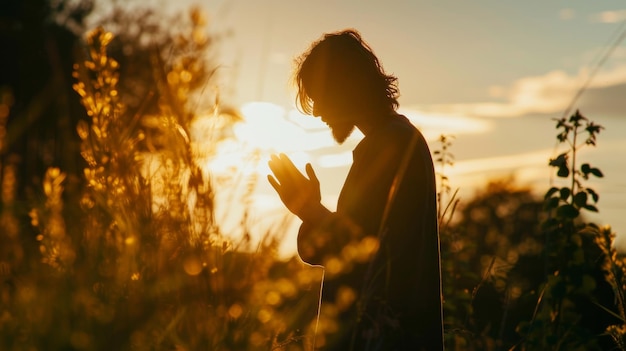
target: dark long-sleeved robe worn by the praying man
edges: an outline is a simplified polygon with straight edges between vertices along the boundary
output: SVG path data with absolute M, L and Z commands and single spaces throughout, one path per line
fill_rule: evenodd
M 298 251 L 326 267 L 323 304 L 335 305 L 339 327 L 325 350 L 443 349 L 433 162 L 406 117 L 390 116 L 357 145 L 337 212 L 303 223 Z M 346 290 L 356 295 L 349 306 Z

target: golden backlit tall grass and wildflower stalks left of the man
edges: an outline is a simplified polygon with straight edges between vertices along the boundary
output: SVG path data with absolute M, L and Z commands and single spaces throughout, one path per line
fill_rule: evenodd
M 101 28 L 89 33 L 88 57 L 75 65 L 89 116 L 76 126 L 84 187 L 70 197 L 71 175 L 49 168 L 29 213 L 32 237 L 12 211 L 12 168 L 2 165 L 0 348 L 305 348 L 319 277 L 278 261 L 274 235 L 254 248 L 249 236 L 233 242 L 221 231 L 216 189 L 189 136 L 195 63 L 163 71 L 155 57 L 160 113 L 131 114 L 112 40 Z

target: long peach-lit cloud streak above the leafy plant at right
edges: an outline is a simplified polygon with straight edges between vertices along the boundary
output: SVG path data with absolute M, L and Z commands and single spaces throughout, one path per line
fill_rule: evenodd
M 489 93 L 504 102 L 477 102 L 466 104 L 445 104 L 420 106 L 425 113 L 456 114 L 482 117 L 519 117 L 528 114 L 552 114 L 563 112 L 572 99 L 589 79 L 591 71 L 580 69 L 570 75 L 563 70 L 553 70 L 544 75 L 518 79 L 509 87 L 493 86 Z M 626 64 L 614 65 L 598 72 L 587 86 L 593 95 L 594 90 L 606 90 L 626 85 Z M 589 101 L 589 99 L 587 99 Z M 622 99 L 604 101 L 622 105 Z

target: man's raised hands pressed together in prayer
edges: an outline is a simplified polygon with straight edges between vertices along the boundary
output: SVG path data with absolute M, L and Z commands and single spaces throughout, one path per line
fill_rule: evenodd
M 268 162 L 273 175 L 267 180 L 276 190 L 287 209 L 301 219 L 310 218 L 312 211 L 321 206 L 320 183 L 310 163 L 305 177 L 285 154 L 272 155 Z

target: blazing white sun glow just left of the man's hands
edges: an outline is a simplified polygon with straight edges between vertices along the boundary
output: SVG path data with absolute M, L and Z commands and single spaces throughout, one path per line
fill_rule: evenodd
M 287 154 L 304 169 L 314 163 L 314 151 L 334 145 L 327 127 L 318 118 L 286 109 L 270 102 L 249 102 L 240 107 L 242 120 L 223 129 L 212 123 L 215 119 L 200 118 L 192 127 L 192 140 L 199 151 L 212 150 L 199 164 L 210 174 L 215 187 L 216 203 L 228 204 L 215 210 L 222 230 L 232 238 L 239 238 L 241 219 L 252 221 L 253 241 L 260 240 L 255 233 L 266 233 L 268 228 L 282 223 L 287 209 L 266 181 L 271 173 L 267 161 L 270 155 Z M 209 136 L 220 133 L 224 138 L 216 145 Z M 213 139 L 215 140 L 215 139 Z M 203 145 L 204 144 L 204 145 Z M 215 143 L 214 143 L 215 144 Z M 294 222 L 295 223 L 295 222 Z M 289 232 L 297 232 L 291 228 Z M 235 240 L 235 239 L 234 239 Z M 285 238 L 282 255 L 292 255 L 295 237 Z M 287 256 L 285 256 L 287 257 Z

